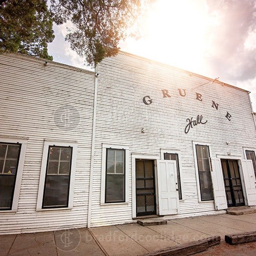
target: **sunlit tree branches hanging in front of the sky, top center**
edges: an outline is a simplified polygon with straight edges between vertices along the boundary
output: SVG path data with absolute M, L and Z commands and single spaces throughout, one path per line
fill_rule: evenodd
M 51 0 L 51 10 L 57 24 L 72 22 L 66 40 L 93 66 L 117 54 L 119 41 L 154 1 Z

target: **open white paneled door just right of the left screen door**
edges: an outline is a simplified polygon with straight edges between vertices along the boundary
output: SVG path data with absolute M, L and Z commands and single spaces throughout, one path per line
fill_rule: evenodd
M 159 214 L 177 214 L 179 211 L 179 192 L 176 161 L 157 160 Z

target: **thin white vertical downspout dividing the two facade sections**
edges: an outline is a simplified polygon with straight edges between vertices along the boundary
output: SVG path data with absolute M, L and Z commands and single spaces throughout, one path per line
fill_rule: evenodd
M 87 228 L 91 226 L 92 212 L 92 192 L 93 192 L 93 166 L 94 166 L 94 149 L 95 149 L 95 131 L 96 131 L 96 110 L 97 110 L 97 91 L 98 91 L 98 64 L 95 67 L 95 82 L 94 82 L 94 100 L 93 100 L 93 131 L 92 131 L 92 148 L 90 159 L 90 183 L 89 183 L 89 200 L 88 200 L 88 217 Z

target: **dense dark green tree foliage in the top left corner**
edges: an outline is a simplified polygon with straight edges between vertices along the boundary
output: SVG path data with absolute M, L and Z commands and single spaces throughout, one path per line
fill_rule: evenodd
M 20 52 L 41 58 L 54 39 L 47 0 L 0 0 L 0 53 Z

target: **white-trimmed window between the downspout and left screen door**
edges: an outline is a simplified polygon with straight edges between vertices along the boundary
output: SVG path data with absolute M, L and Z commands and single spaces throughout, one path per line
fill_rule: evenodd
M 101 204 L 128 202 L 127 146 L 102 145 Z

